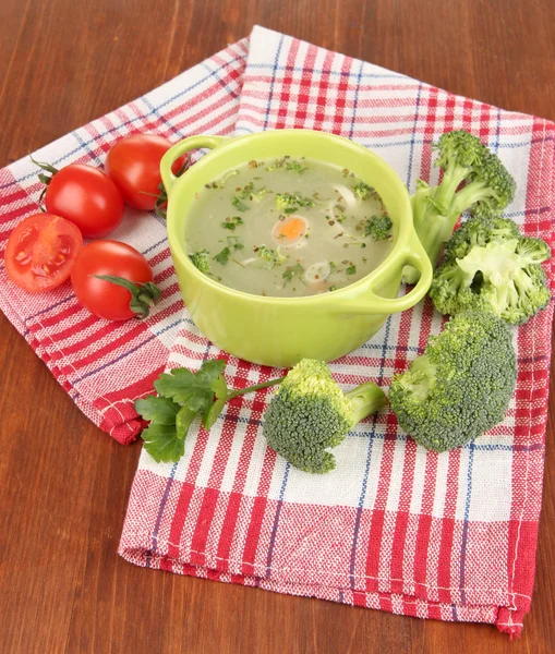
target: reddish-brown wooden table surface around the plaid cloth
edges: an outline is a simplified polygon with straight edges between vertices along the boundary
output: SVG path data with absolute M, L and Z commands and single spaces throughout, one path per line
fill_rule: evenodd
M 1 0 L 0 165 L 171 78 L 258 23 L 555 119 L 553 0 Z M 140 444 L 74 407 L 0 314 L 0 652 L 555 652 L 555 448 L 524 634 L 135 568 L 116 554 Z M 552 379 L 553 382 L 553 379 Z M 555 427 L 551 411 L 547 437 Z

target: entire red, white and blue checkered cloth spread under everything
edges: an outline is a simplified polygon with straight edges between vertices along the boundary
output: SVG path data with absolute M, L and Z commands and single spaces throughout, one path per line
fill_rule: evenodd
M 497 152 L 517 180 L 507 215 L 526 233 L 553 242 L 553 123 L 261 27 L 37 158 L 100 162 L 113 141 L 133 131 L 177 138 L 280 128 L 358 141 L 410 190 L 418 178 L 437 179 L 431 143 L 464 128 Z M 36 208 L 39 187 L 24 162 L 0 181 L 8 187 L 5 238 Z M 164 303 L 145 323 L 97 320 L 67 290 L 35 300 L 0 278 L 2 308 L 97 424 L 121 440 L 132 438 L 140 426 L 132 400 L 150 391 L 166 364 L 195 370 L 224 356 L 234 387 L 282 372 L 228 356 L 197 331 L 182 310 L 156 218 L 136 214 L 114 238 L 146 252 L 164 288 Z M 553 280 L 550 264 L 547 271 Z M 492 622 L 518 634 L 533 586 L 552 314 L 550 305 L 515 330 L 519 376 L 505 421 L 451 452 L 417 446 L 384 411 L 334 450 L 331 473 L 310 475 L 265 445 L 261 421 L 273 391 L 234 399 L 209 433 L 191 429 L 179 463 L 157 464 L 143 451 L 120 554 L 181 574 L 422 618 Z M 334 377 L 346 389 L 369 379 L 387 387 L 441 328 L 442 316 L 426 300 L 334 362 Z

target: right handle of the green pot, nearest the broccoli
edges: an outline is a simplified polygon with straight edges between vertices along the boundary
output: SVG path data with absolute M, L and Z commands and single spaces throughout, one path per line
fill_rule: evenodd
M 391 275 L 399 274 L 399 269 L 406 266 L 413 266 L 420 271 L 418 283 L 406 295 L 400 298 L 382 298 L 375 292 L 375 288 L 386 283 Z M 372 279 L 370 289 L 364 292 L 360 300 L 346 302 L 338 305 L 341 313 L 347 314 L 393 314 L 407 311 L 414 306 L 427 293 L 432 283 L 433 269 L 425 250 L 422 247 L 415 232 L 412 232 L 409 244 L 405 251 L 401 251 L 394 262 L 387 262 L 387 265 L 376 269 L 375 277 Z

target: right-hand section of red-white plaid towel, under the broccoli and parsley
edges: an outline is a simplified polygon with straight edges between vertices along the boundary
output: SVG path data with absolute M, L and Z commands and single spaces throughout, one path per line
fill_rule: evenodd
M 431 143 L 470 130 L 518 182 L 507 215 L 553 241 L 555 126 L 545 120 L 257 27 L 236 133 L 280 128 L 353 138 L 411 190 L 420 177 L 437 178 Z M 143 452 L 120 554 L 181 574 L 518 633 L 533 585 L 551 325 L 552 306 L 515 330 L 519 377 L 507 417 L 451 452 L 417 446 L 385 411 L 334 450 L 331 473 L 310 475 L 266 447 L 261 421 L 272 390 L 234 400 L 209 433 L 192 429 L 178 464 Z M 365 379 L 387 387 L 441 326 L 430 302 L 391 316 L 331 364 L 334 377 L 345 388 Z M 169 366 L 194 370 L 222 355 L 184 314 Z M 234 386 L 279 373 L 228 358 Z

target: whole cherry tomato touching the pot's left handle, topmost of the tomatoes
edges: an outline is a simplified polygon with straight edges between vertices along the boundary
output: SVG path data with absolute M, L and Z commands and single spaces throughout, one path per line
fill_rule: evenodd
M 105 170 L 116 182 L 125 202 L 135 209 L 152 210 L 160 193 L 160 160 L 173 144 L 156 134 L 132 134 L 118 141 L 106 157 Z M 184 164 L 177 159 L 177 174 Z

